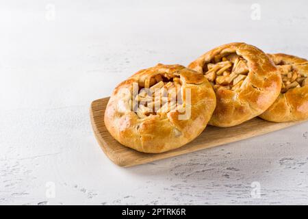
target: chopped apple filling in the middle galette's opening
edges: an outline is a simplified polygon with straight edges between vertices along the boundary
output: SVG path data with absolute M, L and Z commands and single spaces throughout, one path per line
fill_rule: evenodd
M 237 53 L 215 55 L 203 66 L 203 74 L 215 90 L 238 90 L 246 84 L 249 73 L 247 60 Z

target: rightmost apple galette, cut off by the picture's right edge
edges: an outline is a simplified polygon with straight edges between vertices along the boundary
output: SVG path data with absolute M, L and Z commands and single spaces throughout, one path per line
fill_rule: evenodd
M 281 53 L 268 56 L 281 72 L 281 93 L 260 117 L 272 122 L 308 119 L 308 61 Z

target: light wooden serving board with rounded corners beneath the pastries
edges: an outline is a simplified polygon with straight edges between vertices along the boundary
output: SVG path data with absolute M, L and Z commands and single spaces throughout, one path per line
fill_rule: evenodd
M 179 149 L 157 154 L 142 153 L 123 146 L 112 138 L 110 133 L 107 131 L 104 123 L 104 114 L 108 100 L 109 97 L 93 101 L 90 107 L 90 117 L 94 129 L 94 135 L 97 138 L 101 149 L 103 149 L 107 157 L 118 166 L 135 166 L 138 164 L 153 162 L 157 159 L 174 157 L 192 151 L 207 149 L 251 138 L 253 136 L 259 136 L 264 133 L 277 131 L 300 123 L 271 123 L 257 117 L 235 127 L 220 128 L 209 125 L 206 127 L 205 131 L 198 136 L 198 138 Z

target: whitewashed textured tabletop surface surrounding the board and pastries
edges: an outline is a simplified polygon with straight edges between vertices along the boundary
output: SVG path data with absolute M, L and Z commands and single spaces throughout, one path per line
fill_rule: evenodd
M 1 0 L 0 203 L 307 204 L 308 123 L 120 168 L 89 120 L 90 102 L 137 70 L 227 42 L 307 58 L 307 5 Z

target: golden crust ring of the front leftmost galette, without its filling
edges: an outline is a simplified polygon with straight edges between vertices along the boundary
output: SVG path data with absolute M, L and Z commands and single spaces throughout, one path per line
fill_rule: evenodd
M 181 83 L 183 103 L 188 105 L 185 90 L 190 88 L 190 118 L 180 120 L 178 108 L 175 111 L 138 116 L 129 107 L 132 94 L 121 92 L 123 88 L 133 89 L 133 83 L 146 86 L 146 81 L 166 76 L 177 77 Z M 181 107 L 181 105 L 179 107 Z M 120 83 L 112 93 L 105 110 L 105 126 L 121 144 L 146 153 L 162 153 L 179 148 L 194 140 L 206 127 L 216 106 L 216 97 L 211 84 L 201 73 L 181 65 L 157 64 L 138 71 Z

